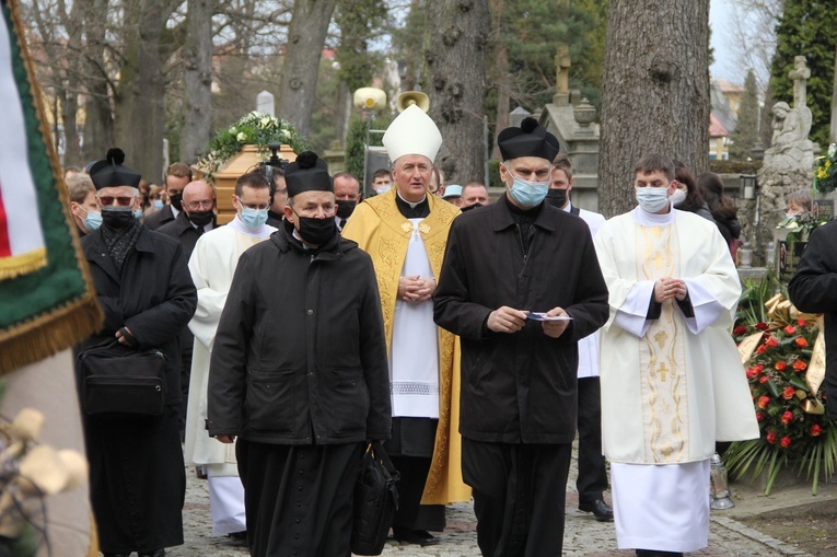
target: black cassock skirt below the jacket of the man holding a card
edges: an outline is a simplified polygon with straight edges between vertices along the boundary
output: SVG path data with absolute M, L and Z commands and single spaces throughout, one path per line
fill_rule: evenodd
M 572 445 L 462 440 L 484 557 L 560 557 Z

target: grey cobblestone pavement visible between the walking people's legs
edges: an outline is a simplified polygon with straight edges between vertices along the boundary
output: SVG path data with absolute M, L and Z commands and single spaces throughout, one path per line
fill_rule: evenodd
M 596 522 L 592 514 L 577 509 L 574 490 L 576 457 L 573 451 L 570 481 L 567 486 L 567 523 L 563 555 L 566 557 L 632 557 L 632 550 L 616 550 L 616 533 L 612 522 Z M 213 537 L 209 514 L 207 483 L 187 471 L 186 504 L 184 507 L 185 544 L 167 550 L 171 557 L 243 557 L 246 545 L 229 537 Z M 609 494 L 608 494 L 609 497 Z M 771 498 L 772 499 L 772 498 Z M 729 512 L 729 511 L 725 511 Z M 472 503 L 457 503 L 447 508 L 447 527 L 438 534 L 441 544 L 432 547 L 399 545 L 391 539 L 384 556 L 391 557 L 478 557 L 476 519 Z M 762 532 L 714 511 L 711 517 L 709 547 L 688 554 L 693 557 L 810 557 L 804 552 L 774 539 Z

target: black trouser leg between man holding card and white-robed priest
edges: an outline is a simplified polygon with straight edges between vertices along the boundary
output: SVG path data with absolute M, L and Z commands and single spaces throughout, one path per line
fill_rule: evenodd
M 607 469 L 602 454 L 602 387 L 598 378 L 579 380 L 579 477 L 580 503 L 602 499 L 607 489 Z

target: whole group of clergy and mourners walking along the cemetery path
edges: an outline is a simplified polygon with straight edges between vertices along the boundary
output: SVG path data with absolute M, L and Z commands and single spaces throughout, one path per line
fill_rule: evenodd
M 473 499 L 483 555 L 560 556 L 577 432 L 579 509 L 615 521 L 618 548 L 706 547 L 716 442 L 759 436 L 728 332 L 742 225 L 720 177 L 649 154 L 626 176 L 636 207 L 606 220 L 573 202 L 570 160 L 532 118 L 498 137 L 493 201 L 444 183 L 417 106 L 383 144 L 365 199 L 307 151 L 240 176 L 223 223 L 187 164 L 160 186 L 119 149 L 67 169 L 105 315 L 77 351 L 165 356 L 162 410 L 84 413 L 104 555 L 183 544 L 196 473 L 213 535 L 348 557 L 382 440 L 398 542 L 439 544 L 445 506 Z

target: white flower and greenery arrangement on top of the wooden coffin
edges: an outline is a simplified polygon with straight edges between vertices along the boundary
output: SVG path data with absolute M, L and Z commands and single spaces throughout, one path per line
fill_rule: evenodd
M 288 144 L 297 153 L 309 149 L 307 141 L 287 120 L 253 111 L 216 134 L 209 141 L 207 154 L 198 161 L 198 166 L 205 169 L 207 176 L 211 177 L 247 144 L 257 146 L 261 159 L 267 160 L 270 143 Z

